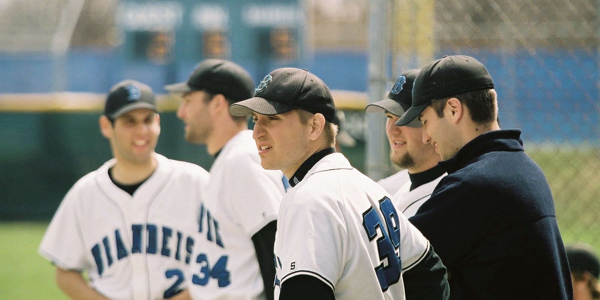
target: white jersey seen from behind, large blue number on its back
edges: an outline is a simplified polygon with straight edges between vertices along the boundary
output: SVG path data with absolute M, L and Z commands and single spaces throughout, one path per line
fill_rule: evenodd
M 329 154 L 281 202 L 275 299 L 280 284 L 300 274 L 322 280 L 338 300 L 404 299 L 401 270 L 428 249 L 379 184 Z

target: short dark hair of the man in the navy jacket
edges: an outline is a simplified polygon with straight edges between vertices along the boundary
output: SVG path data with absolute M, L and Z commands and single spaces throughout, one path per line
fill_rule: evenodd
M 471 119 L 477 124 L 489 124 L 498 118 L 497 94 L 494 89 L 478 89 L 431 101 L 430 105 L 436 111 L 438 118 L 443 118 L 446 101 L 450 98 L 457 98 L 463 103 L 469 109 Z

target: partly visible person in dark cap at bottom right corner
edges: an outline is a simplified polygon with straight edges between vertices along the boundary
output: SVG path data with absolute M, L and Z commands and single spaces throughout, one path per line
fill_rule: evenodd
M 566 247 L 571 279 L 573 281 L 573 300 L 600 299 L 600 261 L 598 254 L 586 243 Z

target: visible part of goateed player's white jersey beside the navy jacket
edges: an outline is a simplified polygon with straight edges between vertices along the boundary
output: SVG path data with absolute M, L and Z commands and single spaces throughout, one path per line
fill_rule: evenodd
M 448 173 L 443 173 L 442 176 L 439 176 L 426 184 L 419 185 L 412 191 L 410 190 L 412 182 L 409 180 L 394 194 L 394 205 L 398 211 L 401 211 L 407 218 L 412 217 L 416 214 L 416 211 L 421 205 L 431 197 L 431 193 L 433 193 L 433 189 L 436 188 L 437 182 L 440 182 L 446 175 L 448 175 Z

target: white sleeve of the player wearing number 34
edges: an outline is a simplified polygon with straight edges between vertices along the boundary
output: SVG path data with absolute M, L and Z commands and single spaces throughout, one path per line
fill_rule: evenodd
M 265 170 L 260 166 L 260 158 L 244 157 L 245 161 L 236 160 L 232 189 L 235 203 L 229 203 L 229 209 L 235 220 L 252 237 L 260 229 L 273 220 L 281 199 L 284 196 L 281 172 Z

